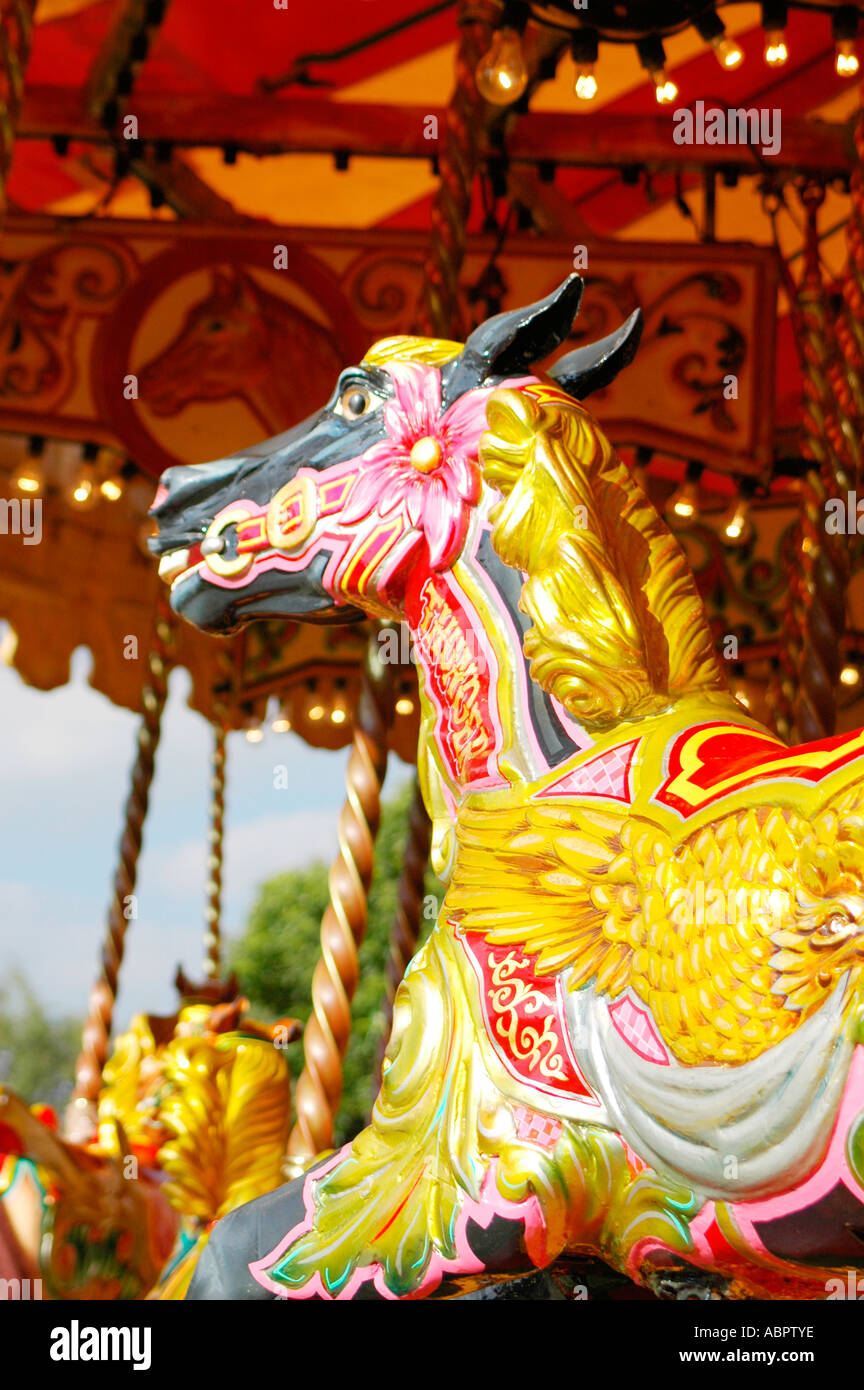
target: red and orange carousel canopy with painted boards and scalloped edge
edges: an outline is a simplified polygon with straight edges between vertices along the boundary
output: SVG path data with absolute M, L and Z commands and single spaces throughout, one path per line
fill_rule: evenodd
M 0 265 L 0 467 L 7 496 L 22 478 L 43 489 L 56 541 L 0 552 L 6 649 L 25 680 L 63 682 L 83 644 L 96 688 L 135 706 L 122 637 L 151 631 L 158 581 L 142 543 L 158 473 L 279 432 L 369 342 L 429 329 L 431 278 L 458 279 L 451 331 L 464 331 L 572 265 L 588 292 L 571 346 L 636 304 L 646 314 L 639 357 L 593 398 L 597 414 L 672 507 L 718 632 L 740 628 L 753 659 L 770 659 L 801 455 L 783 275 L 803 264 L 807 181 L 826 284 L 845 263 L 857 18 L 833 6 L 597 6 L 589 24 L 568 4 L 40 0 Z M 483 24 L 522 31 L 531 72 L 508 107 L 483 103 L 467 67 Z M 700 104 L 701 142 L 678 143 L 675 110 Z M 782 128 L 713 140 L 711 108 L 781 111 Z M 721 534 L 742 482 L 760 520 L 743 552 L 726 542 L 749 539 L 749 523 Z M 697 516 L 676 506 L 695 485 Z M 175 659 L 208 716 L 242 726 L 275 694 L 304 737 L 339 746 L 364 639 L 183 631 Z M 349 717 L 328 719 L 336 708 Z M 397 720 L 403 753 L 414 733 L 410 714 Z

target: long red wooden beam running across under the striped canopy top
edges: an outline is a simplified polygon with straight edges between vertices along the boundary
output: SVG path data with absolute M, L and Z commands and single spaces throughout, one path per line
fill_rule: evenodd
M 286 100 L 219 95 L 135 93 L 128 111 L 138 117 L 139 139 L 172 147 L 242 150 L 251 154 L 340 154 L 379 158 L 432 158 L 426 138 L 432 118 L 443 131 L 446 113 L 419 106 Z M 65 138 L 92 143 L 117 140 L 85 110 L 74 88 L 32 86 L 25 92 L 19 139 Z M 760 156 L 743 145 L 675 145 L 670 115 L 622 115 L 536 111 L 518 121 L 504 150 L 485 149 L 483 158 L 507 154 L 514 164 L 561 164 L 581 168 L 651 167 L 736 170 L 738 172 L 811 172 L 824 179 L 846 175 L 854 164 L 847 125 L 795 117 L 783 121 L 782 146 Z

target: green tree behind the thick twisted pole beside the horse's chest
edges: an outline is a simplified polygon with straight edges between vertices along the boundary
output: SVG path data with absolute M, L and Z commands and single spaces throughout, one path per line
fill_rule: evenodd
M 343 1063 L 344 1087 L 336 1119 L 336 1144 L 343 1144 L 363 1129 L 374 1099 L 375 1062 L 385 1027 L 386 960 L 411 795 L 408 783 L 382 806 L 369 922 L 360 948 L 360 981 Z M 311 863 L 269 878 L 258 890 L 246 930 L 231 954 L 231 965 L 238 972 L 253 1015 L 268 1020 L 288 1016 L 306 1023 L 311 1012 L 313 970 L 319 955 L 321 917 L 328 902 L 326 874 L 326 865 Z M 440 901 L 443 890 L 431 870 L 426 872 L 425 891 L 436 902 Z M 426 910 L 421 940 L 428 935 L 435 917 L 432 903 L 426 902 Z M 303 1068 L 301 1042 L 292 1044 L 286 1056 L 296 1080 Z

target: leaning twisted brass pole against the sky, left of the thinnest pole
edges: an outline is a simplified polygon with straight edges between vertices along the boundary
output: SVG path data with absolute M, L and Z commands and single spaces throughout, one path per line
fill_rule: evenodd
M 90 991 L 81 1054 L 75 1063 L 75 1087 L 65 1115 L 68 1137 L 79 1141 L 92 1137 L 96 1129 L 96 1099 L 101 1086 L 101 1069 L 108 1055 L 108 1038 L 111 1036 L 117 981 L 124 959 L 126 927 L 131 916 L 133 916 L 132 897 L 138 876 L 138 859 L 156 767 L 156 749 L 160 739 L 163 710 L 168 695 L 169 642 L 169 612 L 160 595 L 156 630 L 150 651 L 147 652 L 147 673 L 142 688 L 142 720 L 138 730 L 138 753 L 132 766 L 132 784 L 126 799 L 124 833 L 119 842 L 106 937 L 101 948 L 101 963 L 99 976 Z

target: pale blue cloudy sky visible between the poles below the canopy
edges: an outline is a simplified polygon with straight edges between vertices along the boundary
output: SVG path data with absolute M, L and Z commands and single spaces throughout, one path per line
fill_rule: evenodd
M 42 692 L 0 666 L 0 979 L 22 969 L 57 1013 L 82 1013 L 97 963 L 121 828 L 136 716 L 86 682 L 89 653 L 68 685 Z M 171 676 L 150 816 L 138 874 L 115 1023 L 174 1008 L 178 963 L 200 979 L 210 728 Z M 268 876 L 336 849 L 347 749 L 307 748 L 268 731 L 228 738 L 224 930 L 236 934 Z M 274 788 L 274 767 L 289 788 Z M 390 785 L 408 770 L 393 760 Z

